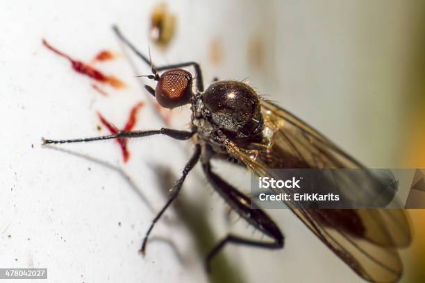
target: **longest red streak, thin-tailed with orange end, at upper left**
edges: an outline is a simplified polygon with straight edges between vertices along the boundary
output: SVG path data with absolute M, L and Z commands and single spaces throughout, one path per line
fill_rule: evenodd
M 58 49 L 54 48 L 53 46 L 51 46 L 44 39 L 43 39 L 43 44 L 44 44 L 44 46 L 46 46 L 48 49 L 50 49 L 54 53 L 56 53 L 56 54 L 58 54 L 58 55 L 60 55 L 64 58 L 67 58 L 69 60 L 69 62 L 71 62 L 71 64 L 72 64 L 72 69 L 74 69 L 76 72 L 83 74 L 85 76 L 89 76 L 90 78 L 97 80 L 101 83 L 108 83 L 109 85 L 111 85 L 115 88 L 124 87 L 124 83 L 122 83 L 121 80 L 115 78 L 114 76 L 106 76 L 101 71 L 99 71 L 98 69 L 95 69 L 94 67 L 91 67 L 90 65 L 86 64 L 85 62 L 72 59 L 69 55 L 67 55 L 67 54 L 59 51 Z

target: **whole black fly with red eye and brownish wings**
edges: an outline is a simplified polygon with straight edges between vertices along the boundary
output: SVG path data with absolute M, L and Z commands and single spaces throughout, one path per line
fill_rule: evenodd
M 364 168 L 324 135 L 274 103 L 260 99 L 246 83 L 216 80 L 203 87 L 197 62 L 156 67 L 129 42 L 115 26 L 117 36 L 140 59 L 151 65 L 156 88 L 145 85 L 164 108 L 190 104 L 190 130 L 119 131 L 116 135 L 81 139 L 44 139 L 44 144 L 65 144 L 105 139 L 123 139 L 167 135 L 173 139 L 194 141 L 194 153 L 185 165 L 181 178 L 171 190 L 165 206 L 153 219 L 145 234 L 140 252 L 147 248 L 149 234 L 167 207 L 176 199 L 183 182 L 195 164 L 217 193 L 245 221 L 269 237 L 258 241 L 228 234 L 206 257 L 206 267 L 228 243 L 268 249 L 281 249 L 284 236 L 276 223 L 262 209 L 251 208 L 251 199 L 217 175 L 210 161 L 233 160 L 259 176 L 268 168 Z M 195 76 L 181 68 L 194 67 Z M 160 72 L 162 72 L 160 74 Z M 344 188 L 342 188 L 343 191 Z M 370 282 L 394 282 L 401 277 L 402 264 L 397 248 L 410 243 L 407 216 L 400 209 L 306 209 L 289 201 L 292 212 L 353 271 Z

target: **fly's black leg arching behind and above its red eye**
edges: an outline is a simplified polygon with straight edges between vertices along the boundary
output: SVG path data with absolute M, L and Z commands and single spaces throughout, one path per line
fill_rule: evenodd
M 153 65 L 151 60 L 149 60 L 147 58 L 147 56 L 143 55 L 140 51 L 138 51 L 138 49 L 129 40 L 127 40 L 126 37 L 124 37 L 124 35 L 121 33 L 121 31 L 119 31 L 119 28 L 117 26 L 113 26 L 113 31 L 115 32 L 117 37 L 119 37 L 119 39 L 122 40 L 122 42 L 124 42 L 124 44 L 126 44 L 126 46 L 128 46 L 136 55 L 138 55 L 138 57 L 140 59 L 142 59 L 145 63 L 147 63 L 147 65 L 151 66 L 152 70 L 164 71 L 166 69 L 174 69 L 174 68 L 183 68 L 183 67 L 193 66 L 194 69 L 195 69 L 195 74 L 196 74 L 195 80 L 196 80 L 196 84 L 197 84 L 197 89 L 198 89 L 199 92 L 203 92 L 202 72 L 201 72 L 201 67 L 199 67 L 199 64 L 197 62 L 185 62 L 185 63 L 181 63 L 181 64 L 165 65 L 165 66 L 161 66 L 161 67 L 155 67 L 155 65 Z

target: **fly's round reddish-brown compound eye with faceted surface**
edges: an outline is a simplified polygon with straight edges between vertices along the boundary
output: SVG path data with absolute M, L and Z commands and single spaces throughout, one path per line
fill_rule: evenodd
M 155 89 L 158 103 L 165 108 L 176 108 L 190 102 L 192 75 L 183 69 L 165 71 Z

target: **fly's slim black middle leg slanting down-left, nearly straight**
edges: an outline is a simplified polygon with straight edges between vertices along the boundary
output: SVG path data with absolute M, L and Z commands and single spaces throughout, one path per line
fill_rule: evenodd
M 147 239 L 149 237 L 149 234 L 151 234 L 152 228 L 155 225 L 156 221 L 158 221 L 158 219 L 163 215 L 163 213 L 165 212 L 165 210 L 167 210 L 167 208 L 169 207 L 169 205 L 171 205 L 171 203 L 173 202 L 173 200 L 176 199 L 178 192 L 181 189 L 181 186 L 183 185 L 183 182 L 186 178 L 186 176 L 188 175 L 188 173 L 190 172 L 190 170 L 193 169 L 193 167 L 197 164 L 197 162 L 199 161 L 199 156 L 201 155 L 201 146 L 199 144 L 197 144 L 195 146 L 195 150 L 194 153 L 192 154 L 192 157 L 190 157 L 190 160 L 188 162 L 188 164 L 186 164 L 185 168 L 183 169 L 183 174 L 181 176 L 180 179 L 177 180 L 176 184 L 174 185 L 174 187 L 171 189 L 171 194 L 169 196 L 169 199 L 167 201 L 167 203 L 164 205 L 163 209 L 160 210 L 160 212 L 156 215 L 155 218 L 153 218 L 153 221 L 151 223 L 151 226 L 149 227 L 149 229 L 147 230 L 144 239 L 143 239 L 143 243 L 142 243 L 142 248 L 140 248 L 140 252 L 142 252 L 142 255 L 144 255 L 144 252 L 146 250 L 146 245 L 147 245 Z

